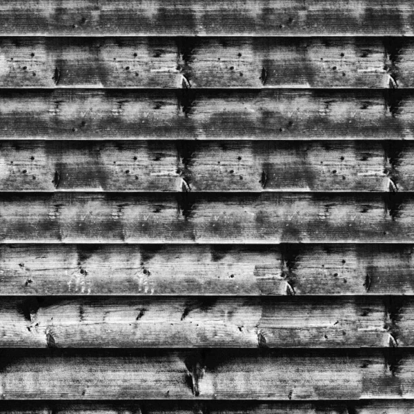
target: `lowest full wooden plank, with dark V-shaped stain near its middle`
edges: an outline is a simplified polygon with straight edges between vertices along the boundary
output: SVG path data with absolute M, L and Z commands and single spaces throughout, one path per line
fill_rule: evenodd
M 413 398 L 413 351 L 396 352 L 4 349 L 1 395 L 3 400 Z

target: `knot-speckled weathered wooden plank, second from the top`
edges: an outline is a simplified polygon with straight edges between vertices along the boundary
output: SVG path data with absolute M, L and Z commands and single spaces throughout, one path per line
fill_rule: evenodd
M 1 88 L 411 88 L 414 39 L 2 37 Z

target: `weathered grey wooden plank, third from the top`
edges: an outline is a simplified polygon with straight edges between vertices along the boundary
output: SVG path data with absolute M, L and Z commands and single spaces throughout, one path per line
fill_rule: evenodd
M 3 90 L 2 139 L 413 139 L 411 90 Z

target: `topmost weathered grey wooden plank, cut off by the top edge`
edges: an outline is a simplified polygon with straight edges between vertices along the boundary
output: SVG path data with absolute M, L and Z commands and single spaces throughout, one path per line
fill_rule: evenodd
M 1 35 L 414 34 L 414 7 L 409 0 L 2 0 L 0 11 Z

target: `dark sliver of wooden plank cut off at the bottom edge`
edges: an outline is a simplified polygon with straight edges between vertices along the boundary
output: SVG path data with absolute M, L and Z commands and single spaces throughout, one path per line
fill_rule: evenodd
M 410 414 L 412 400 L 362 400 L 313 402 L 249 402 L 249 401 L 2 401 L 4 414 Z

